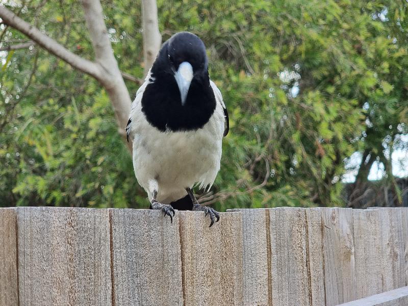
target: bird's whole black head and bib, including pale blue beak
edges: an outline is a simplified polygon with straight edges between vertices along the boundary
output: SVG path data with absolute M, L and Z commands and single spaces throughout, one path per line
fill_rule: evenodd
M 206 124 L 216 101 L 204 43 L 189 32 L 174 34 L 151 67 L 142 111 L 161 131 L 190 131 Z

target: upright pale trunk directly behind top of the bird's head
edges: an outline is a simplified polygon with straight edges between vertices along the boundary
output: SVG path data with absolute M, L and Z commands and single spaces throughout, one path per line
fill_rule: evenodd
M 147 72 L 159 53 L 162 43 L 155 0 L 142 0 L 142 17 L 144 75 L 147 75 Z

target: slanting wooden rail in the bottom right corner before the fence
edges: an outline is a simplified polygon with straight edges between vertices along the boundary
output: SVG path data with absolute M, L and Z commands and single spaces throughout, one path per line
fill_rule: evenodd
M 402 287 L 338 306 L 406 306 L 408 305 L 408 287 Z

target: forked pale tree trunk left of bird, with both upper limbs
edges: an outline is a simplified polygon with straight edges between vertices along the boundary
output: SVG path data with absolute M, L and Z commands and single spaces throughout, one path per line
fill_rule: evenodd
M 25 22 L 4 6 L 0 6 L 0 17 L 4 23 L 27 35 L 38 45 L 64 60 L 72 67 L 91 75 L 103 85 L 109 95 L 115 112 L 119 134 L 122 136 L 122 139 L 125 140 L 125 128 L 127 119 L 129 119 L 132 100 L 112 52 L 112 45 L 109 40 L 102 13 L 102 6 L 99 0 L 83 0 L 82 4 L 95 52 L 96 63 L 73 54 L 57 41 L 42 34 L 37 28 Z M 127 142 L 126 145 L 127 148 L 132 151 L 132 145 Z

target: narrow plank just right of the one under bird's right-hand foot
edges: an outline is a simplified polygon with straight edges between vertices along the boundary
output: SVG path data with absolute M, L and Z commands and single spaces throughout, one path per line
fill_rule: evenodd
M 242 213 L 243 301 L 245 306 L 267 306 L 269 297 L 270 241 L 266 209 L 237 209 Z

